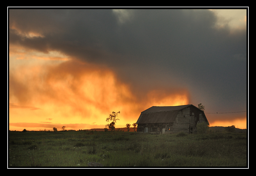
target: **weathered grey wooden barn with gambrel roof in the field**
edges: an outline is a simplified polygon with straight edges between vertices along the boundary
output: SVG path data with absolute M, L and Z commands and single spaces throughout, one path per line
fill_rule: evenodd
M 194 105 L 152 106 L 141 112 L 137 132 L 175 133 L 197 132 L 197 124 L 209 124 L 204 112 Z

